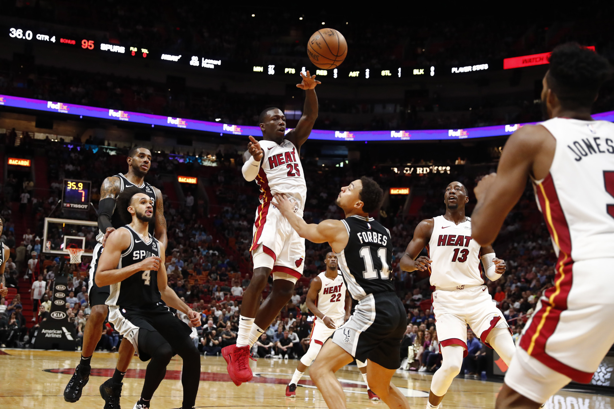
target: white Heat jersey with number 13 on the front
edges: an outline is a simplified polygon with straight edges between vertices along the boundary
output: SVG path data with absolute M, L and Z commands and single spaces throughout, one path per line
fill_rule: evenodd
M 433 217 L 433 233 L 427 251 L 430 285 L 437 288 L 479 286 L 481 277 L 480 244 L 471 237 L 471 219 L 454 224 L 443 216 Z

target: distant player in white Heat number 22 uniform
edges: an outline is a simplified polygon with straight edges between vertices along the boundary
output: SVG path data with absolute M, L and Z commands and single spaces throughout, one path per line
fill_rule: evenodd
M 294 370 L 292 380 L 286 386 L 286 396 L 297 395 L 297 383 L 305 370 L 311 365 L 317 354 L 322 349 L 324 341 L 335 332 L 335 329 L 348 321 L 352 312 L 352 298 L 346 291 L 343 275 L 337 270 L 337 256 L 329 251 L 324 259 L 326 271 L 322 271 L 316 278 L 311 280 L 307 293 L 307 308 L 314 314 L 313 328 L 309 338 L 309 349 L 301 357 L 297 368 Z M 319 318 L 319 319 L 318 319 Z M 367 382 L 367 362 L 356 361 L 356 365 L 362 373 L 362 378 L 367 384 L 367 394 L 371 400 L 379 400 L 379 396 L 373 393 Z

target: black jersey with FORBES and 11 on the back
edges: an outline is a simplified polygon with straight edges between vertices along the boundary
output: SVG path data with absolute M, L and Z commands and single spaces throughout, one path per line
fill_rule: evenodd
M 394 291 L 389 230 L 371 217 L 351 216 L 341 221 L 348 229 L 348 244 L 335 255 L 352 298 Z

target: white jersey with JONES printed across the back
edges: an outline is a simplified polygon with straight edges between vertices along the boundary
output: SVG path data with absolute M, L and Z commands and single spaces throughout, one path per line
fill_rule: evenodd
M 614 251 L 614 124 L 553 118 L 542 122 L 556 149 L 550 173 L 534 181 L 554 244 L 573 261 Z

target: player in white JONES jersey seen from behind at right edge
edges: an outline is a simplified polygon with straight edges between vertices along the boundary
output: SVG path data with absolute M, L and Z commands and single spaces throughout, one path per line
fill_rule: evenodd
M 614 343 L 614 125 L 591 117 L 611 72 L 578 44 L 554 49 L 542 90 L 550 119 L 513 133 L 497 173 L 475 188 L 473 237 L 488 244 L 530 177 L 558 254 L 554 286 L 524 327 L 497 408 L 538 408 L 571 380 L 589 383 Z

